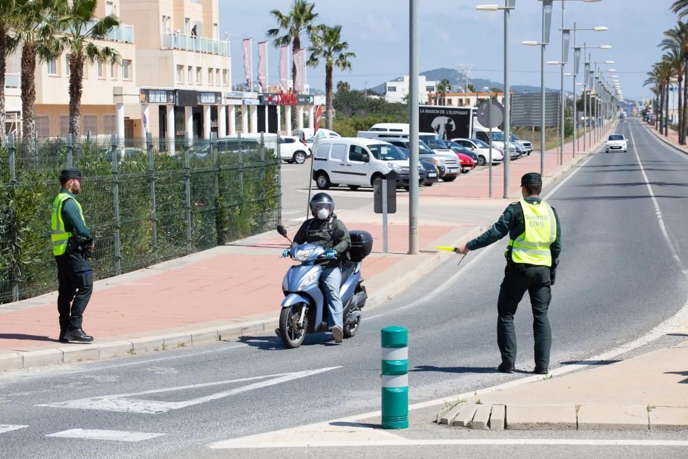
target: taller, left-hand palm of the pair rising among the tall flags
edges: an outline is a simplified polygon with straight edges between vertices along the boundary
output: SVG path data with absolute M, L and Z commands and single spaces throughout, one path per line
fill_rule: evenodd
M 292 55 L 301 49 L 301 34 L 312 34 L 315 30 L 313 21 L 318 17 L 314 12 L 315 3 L 305 0 L 294 0 L 292 10 L 286 14 L 279 10 L 272 10 L 270 14 L 277 19 L 277 28 L 268 30 L 268 38 L 273 39 L 275 47 L 292 45 Z M 292 59 L 292 81 L 297 78 L 297 65 Z M 296 110 L 292 111 L 292 126 L 296 127 Z M 287 133 L 291 134 L 291 133 Z

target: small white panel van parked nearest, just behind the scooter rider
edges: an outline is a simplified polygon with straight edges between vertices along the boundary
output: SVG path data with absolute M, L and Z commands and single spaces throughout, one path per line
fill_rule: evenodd
M 372 186 L 374 180 L 391 171 L 398 174 L 398 186 L 409 188 L 409 160 L 397 147 L 382 140 L 341 137 L 318 140 L 313 158 L 313 180 L 321 190 L 347 185 L 350 189 Z M 418 167 L 422 184 L 425 173 Z

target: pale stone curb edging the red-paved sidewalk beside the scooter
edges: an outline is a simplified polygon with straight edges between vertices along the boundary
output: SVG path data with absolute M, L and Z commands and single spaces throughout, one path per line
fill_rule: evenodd
M 600 143 L 598 142 L 592 148 L 592 151 L 599 149 Z M 569 164 L 559 167 L 550 178 L 545 180 L 544 186 L 559 180 L 562 175 L 589 158 L 591 154 L 593 153 L 590 150 L 587 153 L 581 153 L 580 156 Z M 475 226 L 468 233 L 456 237 L 453 245 L 459 246 L 464 244 L 473 239 L 473 237 L 483 233 L 485 229 L 483 226 Z M 412 257 L 420 256 L 422 255 L 413 255 Z M 423 259 L 419 264 L 414 264 L 412 269 L 406 270 L 404 274 L 396 276 L 394 280 L 387 281 L 380 288 L 376 288 L 375 293 L 367 299 L 365 310 L 378 308 L 385 301 L 389 301 L 396 295 L 399 295 L 453 256 L 453 253 L 438 251 Z M 408 257 L 406 259 L 412 258 Z M 374 279 L 375 277 L 372 277 L 369 282 L 374 282 Z M 28 301 L 31 301 L 31 299 Z M 59 363 L 78 363 L 81 361 L 109 359 L 111 357 L 135 355 L 143 352 L 184 348 L 189 345 L 208 344 L 215 341 L 234 341 L 249 334 L 272 334 L 277 326 L 279 326 L 279 317 L 244 322 L 241 319 L 235 318 L 228 319 L 226 323 L 221 322 L 219 325 L 210 328 L 204 327 L 184 332 L 163 332 L 158 334 L 159 332 L 152 331 L 151 333 L 153 334 L 149 336 L 117 337 L 114 338 L 116 341 L 103 341 L 86 345 L 72 344 L 59 348 L 43 348 L 38 350 L 0 352 L 0 372 L 3 370 L 20 370 L 22 368 L 56 365 Z

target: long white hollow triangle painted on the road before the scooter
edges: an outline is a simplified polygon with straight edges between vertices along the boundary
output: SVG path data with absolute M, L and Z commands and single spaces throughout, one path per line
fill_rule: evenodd
M 102 397 L 80 398 L 78 400 L 45 403 L 36 406 L 70 409 L 98 409 L 101 411 L 120 413 L 159 414 L 169 412 L 173 409 L 181 409 L 193 405 L 199 405 L 200 403 L 206 403 L 209 401 L 217 400 L 218 398 L 225 398 L 228 396 L 241 394 L 242 392 L 248 392 L 251 390 L 261 389 L 263 387 L 268 387 L 271 385 L 286 383 L 288 381 L 293 381 L 294 379 L 305 378 L 306 376 L 312 376 L 314 374 L 329 372 L 330 370 L 336 370 L 337 368 L 341 368 L 341 366 L 318 368 L 316 370 L 305 370 L 303 372 L 269 374 L 267 376 L 255 376 L 252 378 L 230 379 L 228 381 L 216 381 L 215 383 L 184 385 L 179 387 L 169 387 L 166 389 L 152 389 L 144 392 L 133 392 L 131 394 L 115 394 Z M 174 392 L 186 389 L 197 389 L 200 387 L 209 387 L 213 385 L 244 383 L 246 381 L 256 381 L 259 379 L 266 378 L 272 379 L 268 379 L 267 381 L 260 381 L 259 383 L 252 383 L 248 385 L 234 387 L 233 389 L 228 389 L 223 392 L 217 392 L 215 394 L 211 394 L 204 397 L 191 398 L 190 400 L 185 400 L 181 402 L 166 402 L 155 400 L 142 400 L 140 398 L 128 398 L 131 396 L 138 395 L 160 394 L 162 392 Z

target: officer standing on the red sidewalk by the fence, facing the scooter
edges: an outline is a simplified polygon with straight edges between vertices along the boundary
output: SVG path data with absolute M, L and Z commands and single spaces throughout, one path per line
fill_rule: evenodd
M 83 313 L 93 292 L 91 253 L 94 243 L 86 228 L 83 211 L 76 201 L 81 191 L 81 173 L 67 167 L 60 173 L 61 190 L 52 204 L 52 253 L 59 281 L 57 310 L 60 342 L 90 343 L 82 328 Z

